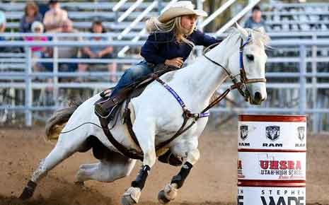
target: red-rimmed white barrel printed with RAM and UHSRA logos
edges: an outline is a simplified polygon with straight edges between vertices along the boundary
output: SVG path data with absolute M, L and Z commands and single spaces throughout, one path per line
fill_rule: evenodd
M 306 204 L 306 116 L 238 116 L 238 205 Z

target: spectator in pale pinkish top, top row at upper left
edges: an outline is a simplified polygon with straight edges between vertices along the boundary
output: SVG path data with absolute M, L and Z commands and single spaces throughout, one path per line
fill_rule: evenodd
M 50 0 L 49 7 L 50 10 L 45 13 L 45 17 L 43 18 L 46 31 L 61 28 L 63 22 L 68 19 L 67 11 L 60 7 L 58 1 Z

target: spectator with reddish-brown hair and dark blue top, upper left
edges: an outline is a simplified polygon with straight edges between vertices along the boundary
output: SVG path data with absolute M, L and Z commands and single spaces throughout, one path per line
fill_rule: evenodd
M 28 1 L 25 6 L 24 16 L 19 24 L 19 32 L 31 33 L 31 25 L 35 21 L 42 21 L 42 16 L 39 13 L 39 7 L 33 1 Z

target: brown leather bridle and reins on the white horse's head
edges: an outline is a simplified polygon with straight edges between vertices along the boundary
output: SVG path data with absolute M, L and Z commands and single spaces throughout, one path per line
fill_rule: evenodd
M 266 78 L 253 78 L 253 79 L 248 79 L 247 78 L 246 69 L 245 69 L 245 66 L 243 64 L 243 48 L 246 45 L 250 44 L 251 42 L 253 42 L 253 40 L 251 38 L 251 34 L 250 33 L 248 34 L 248 38 L 247 38 L 246 42 L 243 42 L 243 38 L 241 37 L 241 43 L 240 43 L 240 47 L 239 47 L 240 74 L 237 74 L 235 76 L 228 69 L 226 69 L 224 66 L 222 66 L 219 63 L 217 63 L 217 61 L 214 61 L 214 60 L 210 59 L 205 54 L 212 47 L 214 47 L 216 45 L 219 45 L 219 42 L 217 42 L 217 43 L 215 43 L 213 45 L 210 45 L 209 47 L 207 47 L 206 49 L 204 49 L 204 52 L 203 52 L 203 56 L 206 59 L 208 59 L 212 63 L 216 64 L 217 66 L 220 66 L 222 69 L 224 69 L 224 71 L 226 72 L 226 74 L 233 81 L 233 86 L 231 86 L 231 90 L 233 90 L 235 88 L 238 89 L 239 93 L 241 93 L 241 95 L 243 96 L 243 98 L 245 98 L 246 101 L 248 101 L 250 99 L 250 93 L 249 93 L 249 90 L 248 90 L 246 84 L 248 84 L 248 83 L 266 83 Z M 236 76 L 239 76 L 239 75 L 240 75 L 240 81 L 238 81 L 238 79 L 236 78 Z

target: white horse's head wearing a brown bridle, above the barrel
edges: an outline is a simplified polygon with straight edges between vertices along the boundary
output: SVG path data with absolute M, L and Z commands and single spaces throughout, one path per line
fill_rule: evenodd
M 263 28 L 251 30 L 237 24 L 232 34 L 234 49 L 228 52 L 228 69 L 236 77 L 238 90 L 250 104 L 260 105 L 267 98 L 265 86 L 265 48 L 270 40 Z M 227 42 L 230 45 L 230 41 Z M 231 45 L 232 46 L 232 45 Z M 232 77 L 231 76 L 231 77 Z

